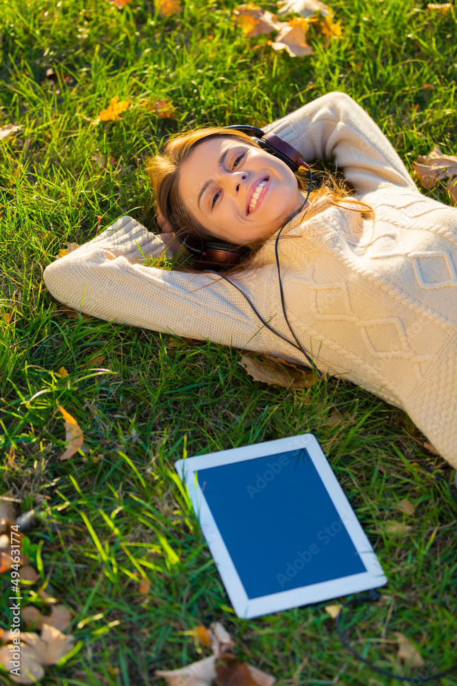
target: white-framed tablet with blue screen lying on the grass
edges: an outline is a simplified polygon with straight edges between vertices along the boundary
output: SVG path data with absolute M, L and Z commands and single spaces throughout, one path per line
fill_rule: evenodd
M 238 617 L 387 582 L 312 434 L 178 460 L 175 468 Z

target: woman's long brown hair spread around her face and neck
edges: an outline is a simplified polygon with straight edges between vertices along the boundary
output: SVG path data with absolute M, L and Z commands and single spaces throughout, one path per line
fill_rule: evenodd
M 168 143 L 166 143 L 163 154 L 150 158 L 147 164 L 149 181 L 156 194 L 158 212 L 162 214 L 165 222 L 171 226 L 173 233 L 175 233 L 178 238 L 186 238 L 186 241 L 190 241 L 197 246 L 199 246 L 202 241 L 214 240 L 214 236 L 197 222 L 192 213 L 186 209 L 184 202 L 182 202 L 178 190 L 180 170 L 182 164 L 189 158 L 190 154 L 200 143 L 217 136 L 233 137 L 248 145 L 260 147 L 247 134 L 238 130 L 223 127 L 199 128 L 186 134 L 175 135 L 175 137 L 171 138 Z M 299 189 L 306 189 L 304 172 L 299 169 L 295 176 L 297 176 Z M 314 214 L 320 213 L 330 204 L 339 204 L 338 201 L 341 202 L 341 200 L 347 198 L 348 195 L 349 193 L 343 185 L 338 184 L 329 174 L 328 183 L 317 189 L 317 191 L 312 191 L 310 193 L 310 200 L 319 199 L 321 202 L 314 202 L 310 205 L 306 213 L 306 219 L 308 220 Z M 354 202 L 356 203 L 356 201 Z M 367 211 L 367 205 L 363 206 L 360 211 Z M 230 270 L 230 272 L 233 273 L 246 268 L 248 265 L 250 266 L 254 261 L 256 252 L 264 242 L 265 239 L 243 246 L 243 248 L 246 249 L 246 256 L 243 262 L 236 267 L 233 267 L 233 265 L 224 265 L 222 269 L 224 271 Z M 220 264 L 217 265 L 219 268 L 221 267 Z M 212 267 L 212 263 L 208 261 L 201 263 L 197 260 L 194 261 L 192 267 L 189 266 L 187 261 L 185 269 L 186 271 L 198 271 L 201 268 L 207 269 L 208 267 Z

